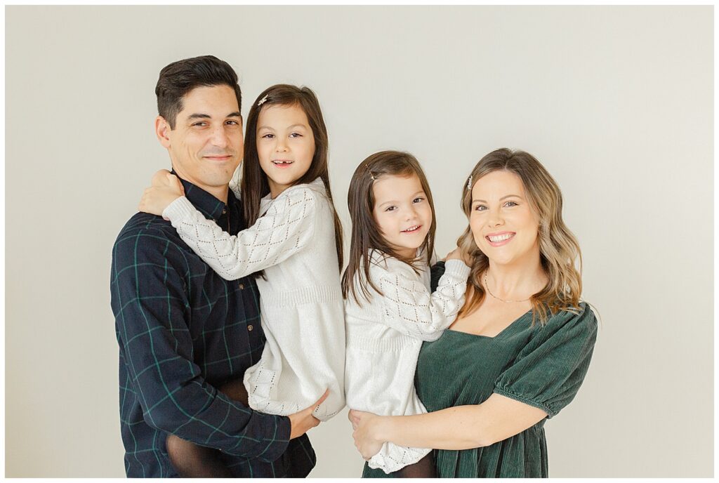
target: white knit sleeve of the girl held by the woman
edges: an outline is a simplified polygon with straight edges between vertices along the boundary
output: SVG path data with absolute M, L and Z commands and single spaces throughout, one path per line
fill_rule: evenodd
M 449 260 L 436 292 L 430 293 L 411 267 L 396 260 L 390 263 L 391 270 L 372 266 L 382 294 L 382 323 L 423 341 L 439 339 L 464 305 L 470 267 Z

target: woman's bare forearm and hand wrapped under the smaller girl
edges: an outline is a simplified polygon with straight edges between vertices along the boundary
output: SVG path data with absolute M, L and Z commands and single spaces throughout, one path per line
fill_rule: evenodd
M 399 446 L 470 449 L 490 446 L 531 428 L 547 413 L 498 394 L 479 405 L 447 408 L 413 416 L 378 416 L 351 410 L 354 446 L 365 459 L 385 441 Z

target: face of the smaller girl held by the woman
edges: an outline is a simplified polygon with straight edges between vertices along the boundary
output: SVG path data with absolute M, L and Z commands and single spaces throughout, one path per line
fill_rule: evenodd
M 416 174 L 383 175 L 373 183 L 375 217 L 385 241 L 398 254 L 414 258 L 432 224 L 432 209 Z

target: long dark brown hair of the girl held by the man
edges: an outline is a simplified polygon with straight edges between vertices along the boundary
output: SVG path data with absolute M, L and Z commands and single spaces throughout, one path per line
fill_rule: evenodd
M 260 101 L 262 101 L 261 104 Z M 311 183 L 317 178 L 322 178 L 327 198 L 329 198 L 332 207 L 332 214 L 334 215 L 334 238 L 337 261 L 339 262 L 337 270 L 342 271 L 342 223 L 339 221 L 339 216 L 337 216 L 334 209 L 332 191 L 329 187 L 327 127 L 324 124 L 324 117 L 322 116 L 317 96 L 308 87 L 290 86 L 289 84 L 270 86 L 257 96 L 255 102 L 252 103 L 252 107 L 249 108 L 247 129 L 244 136 L 242 180 L 240 182 L 242 209 L 244 210 L 244 219 L 247 221 L 247 226 L 255 224 L 255 221 L 260 216 L 260 200 L 267 193 L 270 193 L 267 175 L 262 171 L 260 157 L 257 155 L 257 119 L 260 118 L 262 109 L 267 109 L 267 106 L 299 106 L 307 116 L 314 136 L 315 152 L 309 169 L 293 185 Z

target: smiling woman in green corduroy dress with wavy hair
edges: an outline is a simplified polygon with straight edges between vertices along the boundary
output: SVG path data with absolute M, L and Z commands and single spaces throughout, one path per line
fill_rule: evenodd
M 385 441 L 436 449 L 438 477 L 547 477 L 545 420 L 577 394 L 597 335 L 580 303 L 580 248 L 557 183 L 526 152 L 483 157 L 462 209 L 458 244 L 474 261 L 457 320 L 419 355 L 429 413 L 350 411 L 355 446 L 365 459 Z M 363 476 L 385 474 L 365 465 Z

